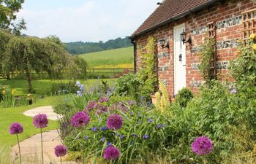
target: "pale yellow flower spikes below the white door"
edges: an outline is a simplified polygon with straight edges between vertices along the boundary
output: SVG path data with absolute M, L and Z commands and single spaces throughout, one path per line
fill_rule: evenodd
M 157 98 L 156 109 L 163 113 L 166 109 L 170 108 L 169 93 L 167 92 L 167 88 L 162 81 L 159 82 L 159 91 L 155 93 L 155 96 Z

